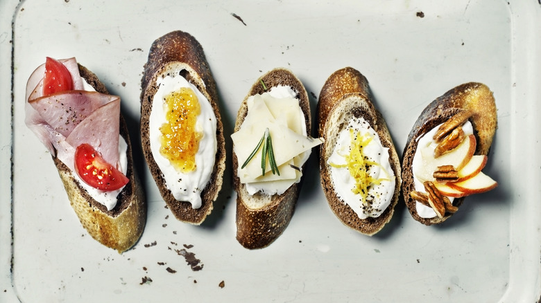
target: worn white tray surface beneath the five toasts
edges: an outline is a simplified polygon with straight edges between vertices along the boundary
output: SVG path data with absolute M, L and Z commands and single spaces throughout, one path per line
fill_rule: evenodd
M 538 1 L 157 2 L 0 3 L 0 302 L 540 299 Z M 80 226 L 50 155 L 24 126 L 26 80 L 46 56 L 76 56 L 121 96 L 137 134 L 143 64 L 153 40 L 171 30 L 191 33 L 205 48 L 228 147 L 241 100 L 276 66 L 300 77 L 313 111 L 313 95 L 333 71 L 359 69 L 399 154 L 433 98 L 483 82 L 495 93 L 499 119 L 485 172 L 499 187 L 468 198 L 440 226 L 422 226 L 400 203 L 384 230 L 365 237 L 329 210 L 313 153 L 289 227 L 252 251 L 234 239 L 230 163 L 214 212 L 199 227 L 173 219 L 139 163 L 148 221 L 139 244 L 119 255 Z M 202 270 L 192 271 L 175 252 L 183 244 L 193 245 L 187 250 Z M 145 276 L 153 282 L 141 285 Z

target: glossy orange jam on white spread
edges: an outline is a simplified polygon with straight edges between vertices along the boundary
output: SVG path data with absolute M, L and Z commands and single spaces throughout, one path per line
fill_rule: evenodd
M 160 127 L 160 154 L 179 172 L 192 172 L 196 169 L 196 154 L 203 137 L 203 132 L 196 129 L 199 100 L 192 89 L 182 87 L 166 95 L 164 107 L 167 122 Z

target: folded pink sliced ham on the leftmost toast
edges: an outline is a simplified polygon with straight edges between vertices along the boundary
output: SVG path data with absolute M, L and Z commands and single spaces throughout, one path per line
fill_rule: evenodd
M 72 171 L 75 149 L 83 143 L 118 167 L 120 98 L 84 91 L 75 58 L 59 61 L 71 73 L 74 91 L 44 96 L 45 64 L 36 68 L 26 86 L 26 125 Z

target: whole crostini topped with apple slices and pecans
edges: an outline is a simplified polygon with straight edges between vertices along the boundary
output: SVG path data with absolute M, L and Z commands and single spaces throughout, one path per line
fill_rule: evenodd
M 442 223 L 465 196 L 497 187 L 481 172 L 496 129 L 495 98 L 481 83 L 456 86 L 422 111 L 402 163 L 402 194 L 413 219 Z

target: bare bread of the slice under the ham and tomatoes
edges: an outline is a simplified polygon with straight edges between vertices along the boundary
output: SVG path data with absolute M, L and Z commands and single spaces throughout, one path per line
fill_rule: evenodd
M 79 73 L 96 91 L 108 93 L 98 77 L 80 64 Z M 146 200 L 139 178 L 133 169 L 130 136 L 122 116 L 120 134 L 128 144 L 126 176 L 130 182 L 117 196 L 117 205 L 112 210 L 107 210 L 104 205 L 94 200 L 76 181 L 71 169 L 56 156 L 53 156 L 53 161 L 68 194 L 69 203 L 89 235 L 105 246 L 124 252 L 134 246 L 143 233 L 146 223 Z

